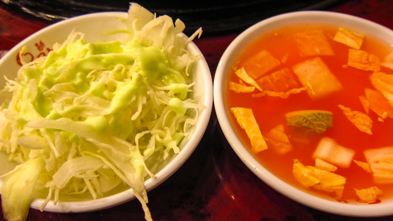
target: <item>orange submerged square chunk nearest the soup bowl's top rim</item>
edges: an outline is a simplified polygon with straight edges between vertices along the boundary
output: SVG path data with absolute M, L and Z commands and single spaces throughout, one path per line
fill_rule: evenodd
M 302 57 L 335 55 L 328 38 L 320 30 L 297 32 L 294 37 Z

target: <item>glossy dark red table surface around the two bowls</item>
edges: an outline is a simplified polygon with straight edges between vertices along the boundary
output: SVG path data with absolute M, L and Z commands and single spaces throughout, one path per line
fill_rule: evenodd
M 359 16 L 393 29 L 392 0 L 346 0 L 324 10 Z M 0 2 L 0 52 L 51 22 Z M 186 24 L 187 25 L 187 24 Z M 203 27 L 202 27 L 203 28 Z M 212 77 L 221 55 L 240 32 L 215 33 L 194 42 L 210 66 Z M 260 181 L 225 140 L 213 110 L 210 124 L 185 164 L 148 192 L 155 221 L 393 221 L 391 217 L 351 218 L 321 212 L 294 202 Z M 143 221 L 138 200 L 81 214 L 30 210 L 28 221 Z M 4 221 L 2 211 L 0 221 Z

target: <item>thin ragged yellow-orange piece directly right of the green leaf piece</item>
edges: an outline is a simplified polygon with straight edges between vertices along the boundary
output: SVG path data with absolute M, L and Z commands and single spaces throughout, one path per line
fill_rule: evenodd
M 360 111 L 352 111 L 349 107 L 344 107 L 343 105 L 338 105 L 338 107 L 343 111 L 347 119 L 355 125 L 360 131 L 367 134 L 372 134 L 372 120 L 368 115 Z

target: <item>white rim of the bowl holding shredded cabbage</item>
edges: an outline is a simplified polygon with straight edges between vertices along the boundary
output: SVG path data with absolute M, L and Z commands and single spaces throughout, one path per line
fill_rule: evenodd
M 77 22 L 82 21 L 82 20 L 89 20 L 93 21 L 96 18 L 104 18 L 104 17 L 119 17 L 119 18 L 126 18 L 128 15 L 127 12 L 118 12 L 118 11 L 103 11 L 103 12 L 94 12 L 94 13 L 88 13 L 84 15 L 79 15 L 75 16 L 60 22 L 56 22 L 52 25 L 49 25 L 37 32 L 32 33 L 28 37 L 26 37 L 24 40 L 16 44 L 14 47 L 12 47 L 9 52 L 5 56 L 3 56 L 0 59 L 0 64 L 8 59 L 13 59 L 13 54 L 17 51 L 19 51 L 23 45 L 25 45 L 29 40 L 35 38 L 36 36 L 42 35 L 46 32 L 51 31 L 54 27 L 58 26 L 67 26 L 69 24 L 77 24 Z M 203 98 L 201 99 L 201 102 L 205 106 L 203 110 L 201 110 L 199 117 L 198 117 L 198 122 L 195 126 L 195 129 L 193 131 L 193 135 L 190 137 L 190 139 L 187 141 L 187 143 L 184 145 L 182 150 L 177 154 L 171 161 L 168 162 L 168 164 L 162 168 L 160 171 L 155 173 L 155 178 L 149 178 L 145 180 L 144 182 L 144 187 L 146 191 L 150 191 L 157 186 L 159 186 L 161 183 L 166 181 L 173 173 L 175 173 L 184 163 L 185 161 L 191 156 L 191 154 L 194 152 L 194 150 L 197 148 L 199 145 L 200 140 L 202 139 L 207 126 L 210 121 L 212 109 L 213 109 L 213 79 L 211 75 L 211 71 L 209 68 L 209 65 L 203 56 L 202 52 L 200 49 L 197 47 L 197 45 L 191 41 L 188 44 L 187 48 L 191 53 L 195 55 L 199 55 L 199 60 L 197 61 L 197 66 L 198 70 L 200 72 L 200 79 L 203 80 L 201 82 L 201 85 L 203 85 Z M 202 87 L 201 87 L 202 88 Z M 0 180 L 0 187 L 2 185 L 2 181 Z M 70 201 L 60 201 L 56 205 L 53 204 L 53 201 L 51 200 L 45 207 L 44 211 L 47 212 L 56 212 L 56 213 L 81 213 L 81 212 L 91 212 L 91 211 L 97 211 L 97 210 L 102 210 L 102 209 L 107 209 L 111 208 L 123 203 L 126 203 L 128 201 L 133 200 L 135 197 L 133 189 L 126 189 L 124 191 L 121 191 L 119 193 L 102 197 L 102 198 L 97 198 L 97 199 L 91 199 L 91 200 L 86 200 L 86 201 L 77 201 L 77 202 L 70 202 Z M 45 199 L 33 199 L 33 201 L 30 204 L 30 208 L 32 209 L 39 209 L 42 203 L 44 202 Z

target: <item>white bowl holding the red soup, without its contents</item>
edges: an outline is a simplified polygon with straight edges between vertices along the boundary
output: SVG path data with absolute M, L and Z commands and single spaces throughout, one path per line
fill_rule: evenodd
M 347 27 L 353 31 L 363 32 L 365 33 L 365 36 L 377 36 L 382 41 L 390 42 L 390 44 L 393 45 L 392 30 L 359 17 L 335 12 L 291 12 L 277 15 L 256 23 L 238 35 L 229 44 L 223 56 L 221 57 L 215 72 L 213 84 L 214 107 L 218 122 L 223 130 L 225 138 L 238 157 L 258 178 L 260 178 L 273 189 L 294 201 L 314 209 L 345 216 L 380 217 L 393 215 L 393 199 L 383 200 L 381 203 L 377 204 L 364 204 L 358 202 L 340 203 L 335 200 L 328 200 L 311 195 L 302 191 L 301 189 L 297 189 L 285 183 L 280 178 L 276 177 L 274 174 L 264 168 L 257 161 L 257 159 L 253 157 L 253 155 L 239 139 L 235 129 L 231 124 L 231 113 L 227 108 L 225 94 L 228 84 L 228 73 L 236 57 L 250 42 L 252 42 L 261 34 L 297 22 L 321 22 L 324 24 L 327 23 L 333 25 L 339 24 L 341 28 Z

